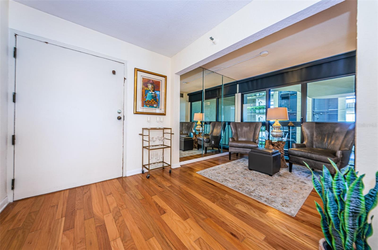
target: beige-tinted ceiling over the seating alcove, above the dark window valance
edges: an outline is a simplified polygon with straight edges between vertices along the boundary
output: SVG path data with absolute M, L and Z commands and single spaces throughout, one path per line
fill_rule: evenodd
M 356 50 L 356 1 L 344 1 L 235 50 L 203 68 L 215 71 L 269 51 L 268 56 L 218 71 L 240 80 Z

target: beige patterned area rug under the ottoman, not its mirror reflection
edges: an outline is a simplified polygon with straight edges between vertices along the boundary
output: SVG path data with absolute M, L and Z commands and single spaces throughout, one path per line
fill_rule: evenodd
M 293 165 L 293 172 L 281 168 L 273 176 L 248 169 L 248 158 L 231 161 L 197 172 L 270 207 L 295 216 L 310 195 L 311 171 Z

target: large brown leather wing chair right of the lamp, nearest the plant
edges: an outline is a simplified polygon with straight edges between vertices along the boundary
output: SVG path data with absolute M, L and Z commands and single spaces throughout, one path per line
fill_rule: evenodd
M 323 169 L 323 165 L 335 174 L 330 160 L 339 169 L 348 165 L 355 141 L 355 123 L 318 123 L 302 124 L 303 143 L 294 143 L 289 153 L 289 171 L 293 163 L 304 166 L 304 162 L 313 169 Z

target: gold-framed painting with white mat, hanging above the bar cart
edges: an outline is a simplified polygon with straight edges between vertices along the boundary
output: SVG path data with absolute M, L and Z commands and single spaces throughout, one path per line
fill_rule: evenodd
M 135 68 L 134 114 L 166 115 L 167 76 Z

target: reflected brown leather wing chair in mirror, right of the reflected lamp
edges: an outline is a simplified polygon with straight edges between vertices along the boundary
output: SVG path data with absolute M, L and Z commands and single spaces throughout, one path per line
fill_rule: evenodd
M 222 139 L 222 127 L 224 129 L 226 124 L 227 124 L 226 122 L 222 124 L 222 122 L 220 121 L 212 121 L 210 123 L 209 134 L 205 134 L 203 138 L 200 136 L 197 137 L 198 146 L 199 145 L 202 146 L 203 144 L 205 148 L 205 154 L 208 153 L 208 147 L 218 148 L 218 152 L 220 152 L 219 145 L 220 145 L 220 140 Z M 198 147 L 198 149 L 200 149 L 200 147 Z

